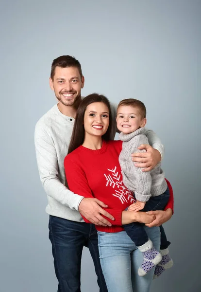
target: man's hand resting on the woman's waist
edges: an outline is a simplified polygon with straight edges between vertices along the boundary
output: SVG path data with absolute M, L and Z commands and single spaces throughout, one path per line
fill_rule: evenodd
M 78 210 L 87 220 L 89 220 L 93 224 L 112 226 L 112 224 L 107 219 L 102 217 L 101 214 L 111 220 L 114 220 L 114 217 L 101 207 L 107 208 L 108 206 L 98 199 L 84 198 L 80 202 Z

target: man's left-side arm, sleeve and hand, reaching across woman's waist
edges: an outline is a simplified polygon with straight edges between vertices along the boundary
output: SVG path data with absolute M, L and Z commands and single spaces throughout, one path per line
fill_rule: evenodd
M 88 220 L 95 218 L 97 215 L 100 215 L 100 213 L 102 214 L 102 211 L 104 211 L 102 208 L 107 207 L 102 201 L 97 199 L 86 200 L 84 196 L 73 193 L 61 183 L 59 180 L 57 155 L 53 141 L 49 133 L 38 124 L 36 124 L 35 127 L 34 142 L 39 175 L 47 195 L 72 210 L 82 210 L 82 214 L 84 214 L 85 218 Z M 110 219 L 113 218 L 106 211 L 104 214 Z M 109 224 L 110 222 L 107 219 L 103 217 L 100 218 L 99 225 L 107 226 Z

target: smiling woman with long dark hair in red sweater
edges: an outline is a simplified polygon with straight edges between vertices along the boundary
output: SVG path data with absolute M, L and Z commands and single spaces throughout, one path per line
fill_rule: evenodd
M 154 218 L 144 212 L 124 211 L 134 202 L 134 196 L 122 182 L 118 163 L 122 142 L 109 141 L 110 130 L 111 110 L 107 98 L 96 93 L 85 97 L 77 110 L 64 162 L 67 184 L 81 196 L 104 201 L 107 211 L 115 218 L 111 227 L 96 226 L 108 292 L 149 292 L 154 270 L 144 277 L 138 276 L 142 254 L 122 224 L 149 223 Z M 153 246 L 159 250 L 159 228 L 145 228 Z

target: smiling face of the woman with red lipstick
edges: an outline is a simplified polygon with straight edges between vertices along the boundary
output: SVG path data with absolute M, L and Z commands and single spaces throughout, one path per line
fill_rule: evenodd
M 85 138 L 104 135 L 108 126 L 108 107 L 103 102 L 94 102 L 88 105 L 84 113 Z

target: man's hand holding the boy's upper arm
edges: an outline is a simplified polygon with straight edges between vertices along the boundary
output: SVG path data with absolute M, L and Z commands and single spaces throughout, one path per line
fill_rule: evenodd
M 145 149 L 147 152 L 132 153 L 132 160 L 137 162 L 136 167 L 142 167 L 142 171 L 150 171 L 156 164 L 161 161 L 161 154 L 157 149 L 154 149 L 148 144 L 143 144 L 138 149 Z

